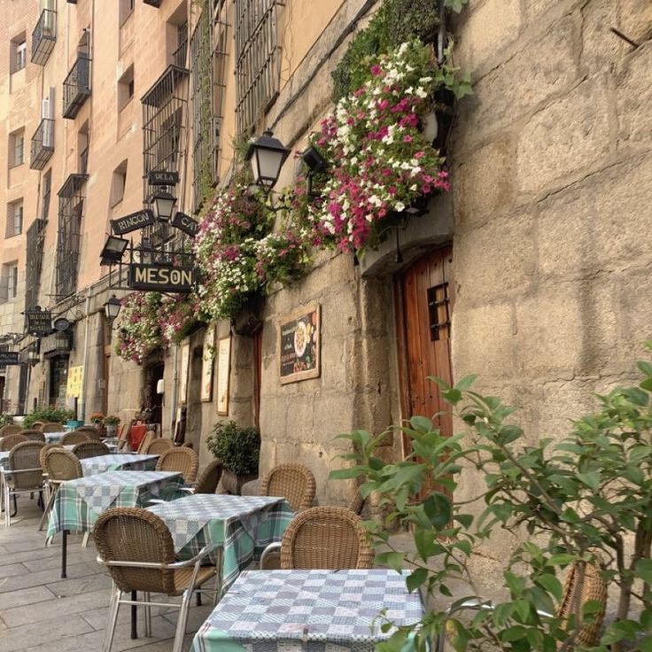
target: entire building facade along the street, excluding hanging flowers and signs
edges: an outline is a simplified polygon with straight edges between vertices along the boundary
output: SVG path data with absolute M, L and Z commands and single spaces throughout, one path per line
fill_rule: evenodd
M 151 206 L 156 170 L 178 173 L 168 190 L 195 214 L 199 171 L 215 188 L 229 182 L 243 134 L 272 128 L 304 151 L 332 112 L 331 72 L 380 0 L 2 4 L 0 324 L 25 359 L 38 347 L 34 366 L 5 368 L 5 409 L 76 398 L 87 417 L 127 420 L 149 407 L 167 433 L 183 418 L 203 462 L 213 423 L 259 423 L 261 472 L 300 460 L 320 500 L 345 503 L 350 487 L 326 482 L 340 463 L 333 438 L 434 413 L 427 376 L 478 373 L 480 389 L 523 408 L 534 440 L 563 434 L 591 392 L 631 374 L 652 317 L 644 0 L 471 0 L 449 25 L 455 63 L 475 80 L 446 142 L 453 191 L 362 260 L 315 252 L 307 276 L 267 297 L 256 332 L 221 320 L 141 366 L 116 356 L 104 314 L 128 293 L 99 265 L 111 221 Z M 278 187 L 297 174 L 288 159 Z M 163 248 L 166 229 L 142 235 Z M 36 306 L 69 327 L 26 335 L 21 313 Z M 284 382 L 283 323 L 314 306 L 319 374 Z M 206 329 L 229 345 L 207 400 Z M 406 453 L 388 439 L 384 454 Z

